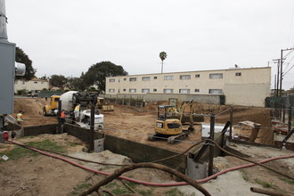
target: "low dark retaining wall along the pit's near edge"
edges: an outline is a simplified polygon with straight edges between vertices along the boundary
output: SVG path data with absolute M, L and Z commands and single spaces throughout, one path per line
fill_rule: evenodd
M 55 134 L 56 127 L 57 124 L 25 127 L 25 136 Z M 63 131 L 68 133 L 69 135 L 74 135 L 78 137 L 83 142 L 89 143 L 89 129 L 65 123 L 63 126 Z M 158 147 L 143 143 L 136 143 L 113 135 L 103 135 L 101 133 L 94 132 L 94 140 L 101 138 L 104 138 L 104 150 L 109 150 L 114 153 L 125 155 L 130 159 L 133 159 L 134 162 L 151 162 L 154 160 L 164 159 L 179 154 L 175 151 L 167 151 L 165 149 L 160 149 Z M 218 139 L 217 143 L 221 143 L 221 140 Z M 195 151 L 194 155 L 196 155 L 197 152 L 198 151 Z M 220 151 L 215 151 L 215 156 L 218 156 L 219 153 Z M 201 160 L 206 161 L 207 159 L 208 152 L 203 155 Z M 167 167 L 175 168 L 177 171 L 185 174 L 185 170 L 187 168 L 187 155 L 182 154 L 177 156 L 176 158 L 167 159 L 159 163 L 166 165 Z M 195 179 L 195 176 L 191 177 Z

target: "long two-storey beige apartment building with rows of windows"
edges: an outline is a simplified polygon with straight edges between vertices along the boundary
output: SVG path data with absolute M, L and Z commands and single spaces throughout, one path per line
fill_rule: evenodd
M 106 78 L 105 94 L 223 94 L 226 104 L 264 106 L 271 68 L 216 69 Z

